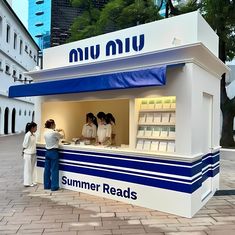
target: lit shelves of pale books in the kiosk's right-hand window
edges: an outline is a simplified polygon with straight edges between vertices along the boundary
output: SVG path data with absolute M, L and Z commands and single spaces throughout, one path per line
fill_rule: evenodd
M 141 100 L 136 149 L 175 152 L 175 103 L 175 97 Z

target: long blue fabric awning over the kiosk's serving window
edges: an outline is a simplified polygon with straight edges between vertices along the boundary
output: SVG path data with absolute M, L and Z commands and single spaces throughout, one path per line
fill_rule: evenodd
M 144 70 L 11 86 L 9 97 L 44 96 L 166 84 L 167 65 Z

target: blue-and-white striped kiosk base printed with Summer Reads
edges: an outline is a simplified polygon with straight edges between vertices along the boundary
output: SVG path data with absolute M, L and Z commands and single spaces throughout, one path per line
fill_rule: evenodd
M 213 191 L 219 182 L 219 152 L 193 162 L 83 150 L 61 149 L 59 154 L 63 188 L 186 217 L 205 204 L 203 184 L 209 182 Z M 45 149 L 38 147 L 37 155 L 42 177 Z

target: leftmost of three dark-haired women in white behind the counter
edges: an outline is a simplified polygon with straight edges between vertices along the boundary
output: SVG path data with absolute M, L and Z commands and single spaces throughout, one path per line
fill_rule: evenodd
M 82 139 L 95 140 L 97 130 L 97 119 L 93 113 L 86 114 L 86 124 L 82 128 Z

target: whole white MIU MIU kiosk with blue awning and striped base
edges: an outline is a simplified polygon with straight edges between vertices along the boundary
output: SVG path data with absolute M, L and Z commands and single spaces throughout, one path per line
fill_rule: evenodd
M 60 187 L 192 217 L 219 188 L 227 71 L 193 12 L 46 49 L 44 69 L 27 73 L 34 83 L 9 96 L 37 96 L 38 182 L 53 118 L 71 143 L 60 145 Z M 116 146 L 73 142 L 99 111 L 116 118 Z

